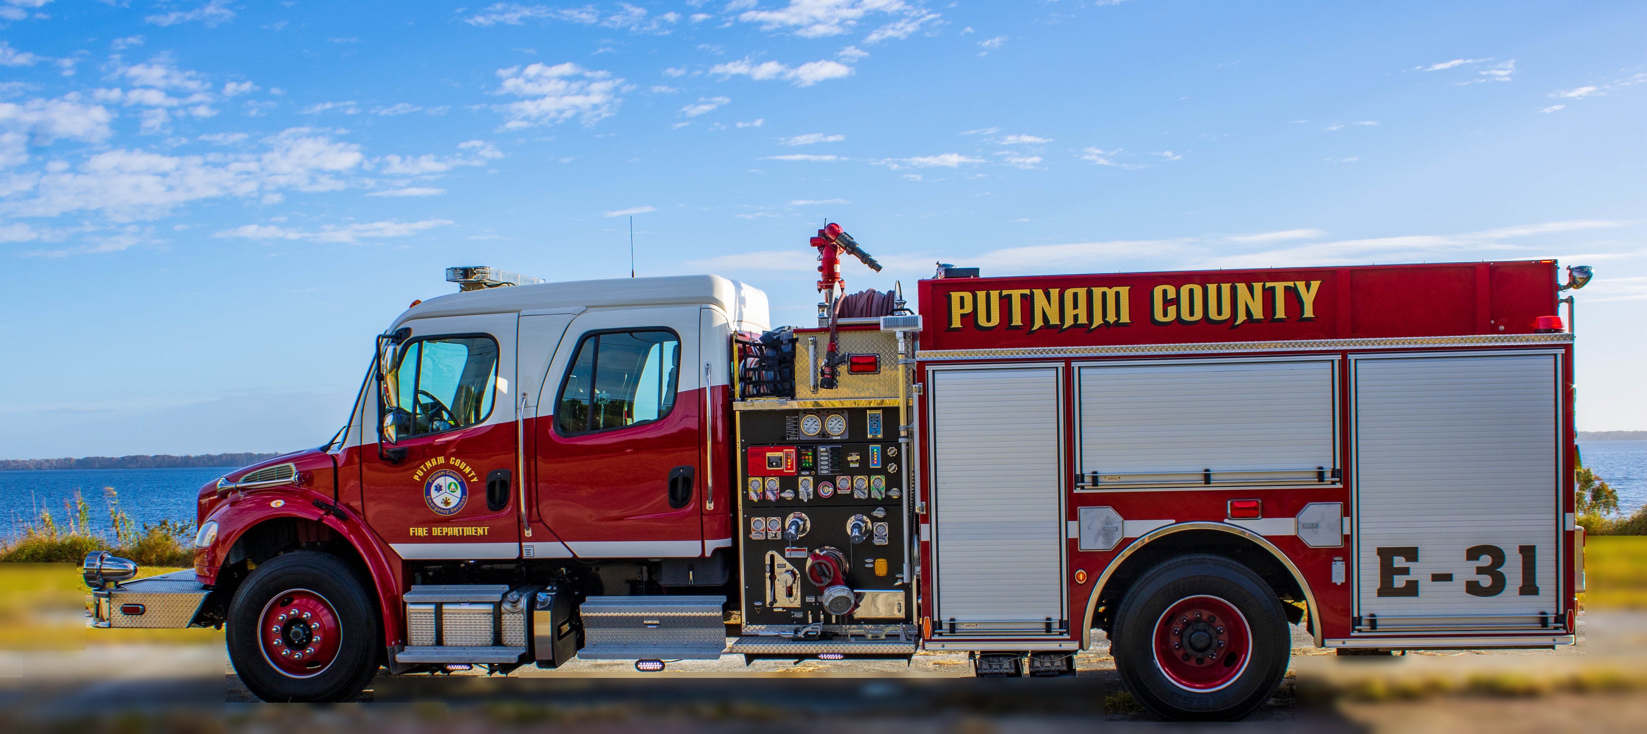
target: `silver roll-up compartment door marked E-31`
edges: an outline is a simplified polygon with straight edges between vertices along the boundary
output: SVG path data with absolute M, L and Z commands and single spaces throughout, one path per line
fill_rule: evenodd
M 1354 360 L 1357 632 L 1556 625 L 1553 354 Z

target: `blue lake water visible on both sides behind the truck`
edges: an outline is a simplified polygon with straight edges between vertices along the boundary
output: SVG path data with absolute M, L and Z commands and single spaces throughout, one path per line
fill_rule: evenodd
M 1647 502 L 1647 441 L 1584 441 L 1579 444 L 1584 466 L 1619 492 L 1619 507 L 1629 513 Z M 217 469 L 66 469 L 66 471 L 0 471 L 0 535 L 10 537 L 18 523 L 36 517 L 38 509 L 51 512 L 66 525 L 63 502 L 79 490 L 91 505 L 92 528 L 109 533 L 109 505 L 104 487 L 114 487 L 125 513 L 143 522 L 175 518 L 194 522 L 194 497 L 199 487 L 221 477 Z

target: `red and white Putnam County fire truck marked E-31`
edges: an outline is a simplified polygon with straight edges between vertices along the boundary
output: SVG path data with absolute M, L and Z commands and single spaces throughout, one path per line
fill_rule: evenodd
M 97 627 L 226 627 L 268 701 L 380 668 L 909 658 L 1074 675 L 1102 630 L 1174 719 L 1291 655 L 1575 639 L 1555 260 L 980 276 L 819 321 L 695 275 L 451 268 L 348 425 L 199 490 L 189 571 L 92 553 Z

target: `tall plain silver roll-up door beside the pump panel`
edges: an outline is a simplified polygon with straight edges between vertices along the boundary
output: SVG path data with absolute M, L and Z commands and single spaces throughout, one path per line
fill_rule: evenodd
M 1062 634 L 1059 369 L 942 369 L 929 387 L 934 634 Z

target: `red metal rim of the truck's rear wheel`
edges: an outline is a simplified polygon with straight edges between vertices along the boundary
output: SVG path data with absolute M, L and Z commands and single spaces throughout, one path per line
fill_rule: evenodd
M 1240 678 L 1252 658 L 1252 629 L 1234 604 L 1191 596 L 1155 622 L 1155 665 L 1187 691 L 1217 691 Z

